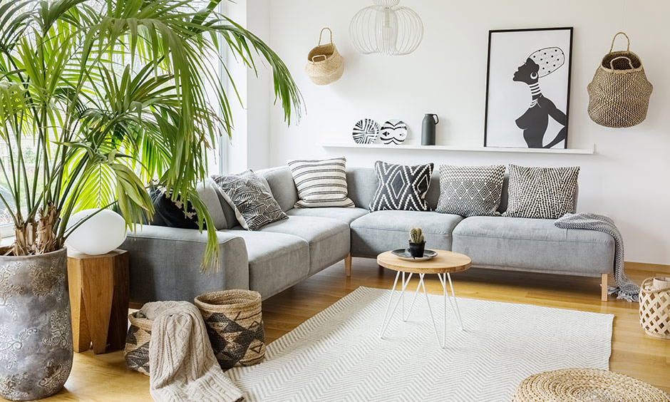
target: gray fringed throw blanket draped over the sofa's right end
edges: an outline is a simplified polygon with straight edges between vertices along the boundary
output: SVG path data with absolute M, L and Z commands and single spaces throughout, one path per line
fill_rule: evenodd
M 561 229 L 596 230 L 614 237 L 614 280 L 617 281 L 617 286 L 608 287 L 607 293 L 616 293 L 617 299 L 638 301 L 640 288 L 624 273 L 624 238 L 614 225 L 614 221 L 602 215 L 580 212 L 579 214 L 566 214 L 558 218 L 554 225 Z

